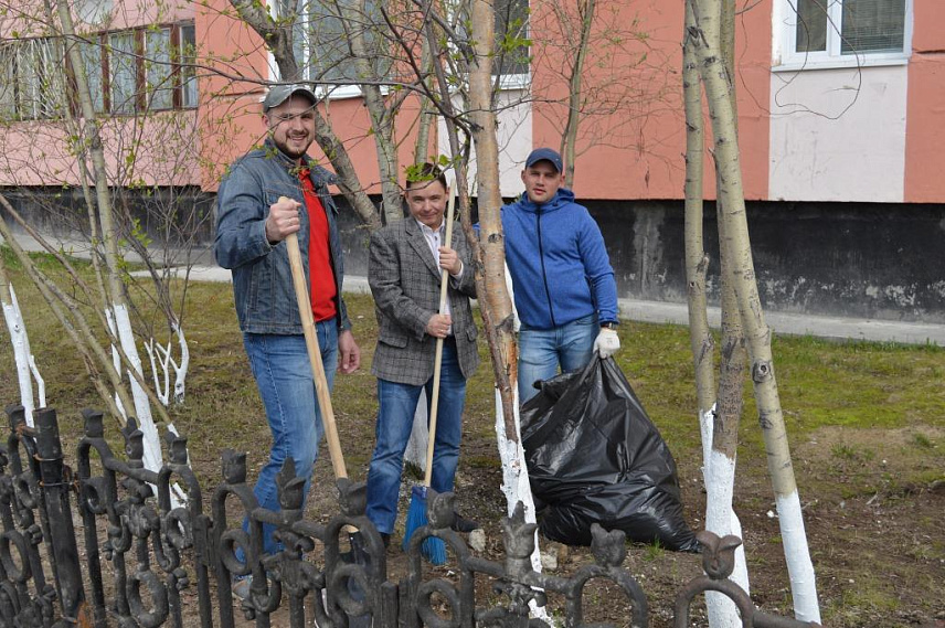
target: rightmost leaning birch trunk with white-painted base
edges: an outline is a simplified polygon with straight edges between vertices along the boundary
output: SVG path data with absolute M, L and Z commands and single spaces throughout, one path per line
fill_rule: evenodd
M 732 85 L 719 35 L 721 3 L 720 0 L 688 0 L 688 2 L 693 12 L 694 24 L 689 29 L 689 34 L 694 43 L 712 120 L 721 200 L 719 222 L 724 223 L 725 237 L 725 242 L 720 242 L 720 249 L 723 256 L 732 260 L 729 276 L 733 281 L 752 360 L 752 381 L 765 440 L 768 472 L 777 502 L 795 616 L 803 621 L 819 622 L 820 610 L 814 566 L 804 532 L 800 498 L 794 478 L 774 373 L 771 330 L 765 323 L 755 281 L 745 217 L 736 119 L 732 107 Z

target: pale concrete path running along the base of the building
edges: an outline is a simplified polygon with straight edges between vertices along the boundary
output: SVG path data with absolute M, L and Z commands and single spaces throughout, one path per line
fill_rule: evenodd
M 28 236 L 17 241 L 28 251 L 39 251 L 40 247 Z M 2 238 L 0 238 L 2 243 Z M 66 252 L 83 256 L 86 244 L 72 241 L 54 241 L 55 245 Z M 209 249 L 194 252 L 199 264 L 191 268 L 190 277 L 197 281 L 230 281 L 230 270 L 213 264 Z M 128 255 L 129 260 L 137 260 Z M 344 291 L 367 294 L 368 278 L 358 276 L 344 277 Z M 645 321 L 656 323 L 688 324 L 689 313 L 686 304 L 669 304 L 662 301 L 637 301 L 620 299 L 620 318 L 628 321 Z M 709 308 L 709 324 L 718 328 L 721 319 L 719 308 Z M 901 322 L 892 320 L 873 320 L 810 316 L 804 313 L 765 312 L 765 319 L 775 333 L 793 336 L 814 336 L 831 340 L 868 340 L 875 342 L 903 342 L 909 344 L 935 344 L 945 347 L 945 324 L 921 322 Z

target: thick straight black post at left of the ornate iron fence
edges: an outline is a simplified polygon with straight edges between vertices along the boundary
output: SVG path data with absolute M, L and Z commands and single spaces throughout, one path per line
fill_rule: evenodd
M 65 478 L 62 443 L 59 435 L 56 411 L 42 408 L 35 415 L 36 461 L 40 466 L 40 483 L 50 524 L 50 543 L 53 551 L 56 588 L 62 603 L 63 618 L 79 626 L 92 626 L 85 590 L 82 586 L 82 570 L 78 564 L 78 546 L 70 508 L 70 486 Z

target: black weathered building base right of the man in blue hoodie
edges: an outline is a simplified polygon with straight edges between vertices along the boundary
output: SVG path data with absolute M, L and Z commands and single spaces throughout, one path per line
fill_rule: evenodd
M 590 209 L 607 242 L 622 297 L 686 301 L 680 201 L 595 202 Z M 945 323 L 945 206 L 752 201 L 746 210 L 765 308 Z M 707 291 L 718 305 L 711 203 L 703 226 Z

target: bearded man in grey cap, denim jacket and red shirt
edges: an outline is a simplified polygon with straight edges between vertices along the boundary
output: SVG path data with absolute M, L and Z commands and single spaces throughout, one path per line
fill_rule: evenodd
M 276 473 L 287 457 L 308 493 L 323 434 L 284 243 L 289 234 L 298 234 L 329 387 L 336 369 L 351 373 L 361 363 L 341 298 L 338 210 L 327 189 L 333 175 L 306 155 L 315 139 L 315 94 L 300 85 L 272 88 L 263 100 L 265 143 L 233 163 L 217 194 L 214 253 L 217 264 L 233 270 L 243 345 L 273 433 L 254 492 L 273 511 L 279 510 Z M 278 551 L 272 531 L 264 526 L 267 554 Z

